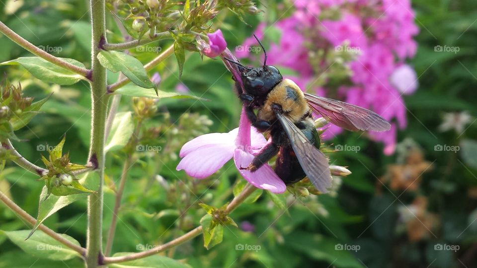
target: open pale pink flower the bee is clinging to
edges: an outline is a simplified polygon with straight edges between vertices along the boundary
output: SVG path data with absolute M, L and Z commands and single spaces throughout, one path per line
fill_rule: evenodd
M 233 157 L 240 174 L 251 185 L 281 194 L 286 190 L 285 183 L 269 165 L 265 164 L 255 172 L 241 169 L 251 163 L 254 154 L 266 143 L 265 137 L 251 127 L 243 109 L 239 128 L 229 133 L 201 135 L 184 144 L 179 153 L 183 158 L 176 169 L 184 170 L 191 177 L 203 179 L 215 173 Z

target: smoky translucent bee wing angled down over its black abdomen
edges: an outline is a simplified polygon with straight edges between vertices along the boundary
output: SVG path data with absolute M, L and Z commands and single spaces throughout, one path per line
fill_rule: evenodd
M 328 159 L 317 147 L 308 141 L 307 137 L 290 119 L 279 113 L 277 113 L 277 118 L 290 138 L 293 151 L 303 171 L 305 171 L 310 181 L 321 193 L 327 193 L 327 188 L 331 187 Z

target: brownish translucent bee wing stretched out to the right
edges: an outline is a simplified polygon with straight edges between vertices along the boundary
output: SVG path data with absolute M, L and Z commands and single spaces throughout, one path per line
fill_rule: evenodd
M 350 131 L 389 131 L 391 125 L 377 113 L 346 102 L 305 93 L 308 105 L 334 125 Z

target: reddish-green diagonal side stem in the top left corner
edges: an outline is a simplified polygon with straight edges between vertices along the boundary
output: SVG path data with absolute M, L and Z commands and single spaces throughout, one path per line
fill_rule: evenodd
M 90 78 L 89 77 L 89 70 L 88 69 L 85 69 L 85 68 L 81 68 L 81 67 L 78 67 L 78 66 L 75 66 L 75 65 L 72 65 L 71 63 L 67 63 L 65 61 L 63 61 L 62 59 L 60 58 L 57 58 L 43 50 L 41 50 L 40 48 L 38 48 L 37 46 L 33 45 L 32 43 L 28 42 L 26 39 L 24 39 L 23 37 L 19 36 L 17 33 L 15 33 L 14 31 L 12 31 L 10 28 L 8 28 L 8 26 L 6 26 L 3 22 L 0 21 L 0 32 L 2 34 L 4 34 L 6 37 L 10 38 L 11 41 L 17 43 L 19 46 L 21 46 L 22 48 L 28 50 L 29 52 L 33 53 L 34 55 L 52 63 L 52 64 L 55 64 L 55 65 L 58 65 L 60 67 L 64 67 L 66 69 L 69 69 L 71 71 L 74 71 L 76 73 L 79 73 L 81 74 L 82 76 L 84 77 L 87 77 L 87 78 Z

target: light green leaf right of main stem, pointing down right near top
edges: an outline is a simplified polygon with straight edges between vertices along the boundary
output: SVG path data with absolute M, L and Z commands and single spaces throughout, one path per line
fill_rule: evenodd
M 103 67 L 112 72 L 121 71 L 138 86 L 144 88 L 156 87 L 156 84 L 149 79 L 143 64 L 131 55 L 119 51 L 102 50 L 98 54 L 98 60 Z

